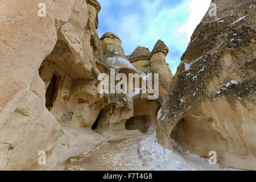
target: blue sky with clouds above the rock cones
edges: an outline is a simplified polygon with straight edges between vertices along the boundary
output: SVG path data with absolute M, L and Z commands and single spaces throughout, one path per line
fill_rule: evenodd
M 157 40 L 170 52 L 167 63 L 174 74 L 197 24 L 207 12 L 210 0 L 98 0 L 98 34 L 113 32 L 122 40 L 126 55 L 138 46 L 150 51 Z

